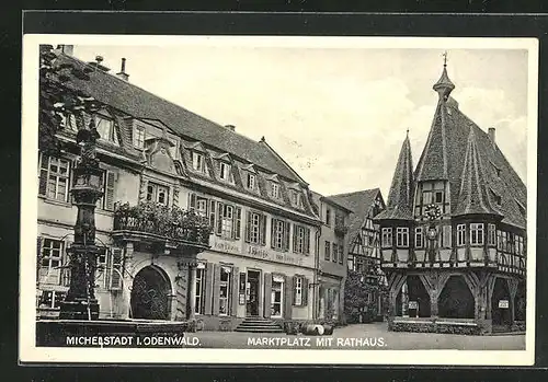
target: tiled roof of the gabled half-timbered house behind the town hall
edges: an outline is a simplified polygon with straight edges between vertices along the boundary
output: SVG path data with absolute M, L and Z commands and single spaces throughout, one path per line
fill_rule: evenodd
M 346 207 L 352 211 L 350 215 L 349 224 L 349 238 L 352 240 L 365 222 L 367 217 L 373 218 L 373 206 L 375 199 L 380 197 L 383 200 L 383 195 L 379 188 L 364 189 L 347 194 L 331 195 L 327 198 L 336 201 L 336 204 Z

